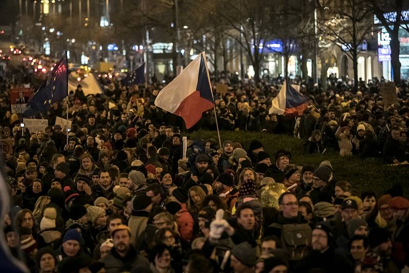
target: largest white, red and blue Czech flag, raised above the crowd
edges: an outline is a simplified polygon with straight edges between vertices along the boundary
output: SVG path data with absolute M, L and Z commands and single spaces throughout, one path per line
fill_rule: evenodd
M 155 105 L 184 119 L 191 128 L 214 106 L 205 52 L 199 54 L 155 99 Z

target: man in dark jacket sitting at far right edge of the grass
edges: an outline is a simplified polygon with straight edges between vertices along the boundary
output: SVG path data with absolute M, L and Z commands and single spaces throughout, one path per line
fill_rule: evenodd
M 383 158 L 389 164 L 397 164 L 405 161 L 405 147 L 400 140 L 400 129 L 392 127 L 391 134 L 383 145 Z

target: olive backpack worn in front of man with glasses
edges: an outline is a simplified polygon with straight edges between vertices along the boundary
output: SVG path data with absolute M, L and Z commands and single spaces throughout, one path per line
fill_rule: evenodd
M 307 255 L 306 247 L 311 243 L 312 234 L 309 224 L 272 223 L 270 227 L 281 230 L 281 247 L 286 249 L 291 261 L 301 260 Z

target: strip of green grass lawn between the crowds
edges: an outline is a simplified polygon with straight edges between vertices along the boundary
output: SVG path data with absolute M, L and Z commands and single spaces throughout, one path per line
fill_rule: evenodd
M 189 133 L 191 139 L 213 138 L 217 140 L 215 131 L 196 131 Z M 401 185 L 405 193 L 409 192 L 409 166 L 388 166 L 384 164 L 382 158 L 362 159 L 359 156 L 341 157 L 336 151 L 329 151 L 324 155 L 308 155 L 303 151 L 303 141 L 291 138 L 288 135 L 269 134 L 265 132 L 247 132 L 247 131 L 221 131 L 221 142 L 231 140 L 239 142 L 243 149 L 247 150 L 249 143 L 258 139 L 263 143 L 264 150 L 271 157 L 277 150 L 285 149 L 291 151 L 292 158 L 290 163 L 303 165 L 312 165 L 318 167 L 324 160 L 329 160 L 334 169 L 334 179 L 347 180 L 355 189 L 359 191 L 372 191 L 377 195 L 383 194 L 393 185 Z M 274 161 L 274 160 L 272 160 Z

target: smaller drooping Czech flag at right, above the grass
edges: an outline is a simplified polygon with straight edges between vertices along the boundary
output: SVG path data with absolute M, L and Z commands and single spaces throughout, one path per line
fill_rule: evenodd
M 309 102 L 306 97 L 301 95 L 294 86 L 284 81 L 277 97 L 272 100 L 272 105 L 268 113 L 276 113 L 277 115 L 284 116 L 298 114 L 301 116 L 308 104 Z

